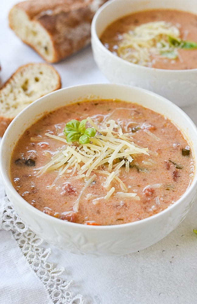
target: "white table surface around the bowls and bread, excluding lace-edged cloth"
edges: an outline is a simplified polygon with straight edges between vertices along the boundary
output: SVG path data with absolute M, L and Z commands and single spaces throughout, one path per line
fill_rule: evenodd
M 9 29 L 8 12 L 15 3 L 16 0 L 1 0 L 0 5 L 2 83 L 19 66 L 43 61 Z M 91 47 L 54 67 L 60 73 L 62 87 L 108 82 L 94 62 Z M 197 124 L 197 105 L 185 107 L 184 111 Z M 59 268 L 66 268 L 62 277 L 74 279 L 72 291 L 83 295 L 86 304 L 195 304 L 197 235 L 193 228 L 197 229 L 196 203 L 178 228 L 157 244 L 137 253 L 90 258 L 67 253 L 49 244 L 45 246 L 52 249 L 50 261 Z

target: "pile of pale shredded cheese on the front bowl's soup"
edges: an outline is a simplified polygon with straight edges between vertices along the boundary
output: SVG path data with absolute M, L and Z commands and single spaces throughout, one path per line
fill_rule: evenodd
M 64 173 L 70 173 L 75 178 L 86 178 L 85 188 L 87 188 L 97 172 L 106 176 L 104 187 L 108 190 L 108 193 L 104 199 L 108 199 L 115 193 L 114 195 L 119 197 L 132 197 L 139 200 L 136 193 L 127 193 L 127 189 L 118 174 L 122 166 L 125 166 L 127 172 L 129 171 L 134 155 L 149 155 L 148 148 L 136 146 L 130 134 L 123 134 L 122 128 L 114 120 L 105 122 L 102 127 L 96 125 L 90 117 L 87 118 L 87 121 L 97 131 L 96 135 L 91 138 L 90 143 L 75 145 L 74 143 L 67 143 L 63 137 L 45 133 L 46 136 L 60 140 L 66 145 L 39 170 L 37 176 L 41 176 L 49 170 L 58 170 L 57 178 Z M 104 164 L 106 169 L 101 170 L 100 168 Z M 119 184 L 122 192 L 115 192 L 115 188 L 110 185 L 112 181 Z M 83 192 L 84 189 L 81 194 Z M 78 209 L 78 201 L 75 202 L 75 210 Z

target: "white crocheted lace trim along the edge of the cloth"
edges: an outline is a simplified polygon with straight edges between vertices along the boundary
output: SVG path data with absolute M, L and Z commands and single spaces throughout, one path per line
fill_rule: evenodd
M 74 296 L 73 292 L 68 290 L 74 281 L 65 282 L 60 277 L 65 269 L 55 268 L 53 263 L 48 262 L 51 249 L 41 247 L 43 240 L 22 222 L 7 196 L 2 203 L 4 206 L 2 206 L 0 229 L 12 231 L 22 253 L 38 278 L 46 286 L 54 304 L 85 304 L 82 295 Z

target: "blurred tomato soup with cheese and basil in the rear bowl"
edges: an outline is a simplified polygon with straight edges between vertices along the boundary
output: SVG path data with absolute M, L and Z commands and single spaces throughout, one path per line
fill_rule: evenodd
M 130 62 L 159 69 L 197 68 L 197 16 L 155 9 L 116 20 L 100 37 L 112 53 Z

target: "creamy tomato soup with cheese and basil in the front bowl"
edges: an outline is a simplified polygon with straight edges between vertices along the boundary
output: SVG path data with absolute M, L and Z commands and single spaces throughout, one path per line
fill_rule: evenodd
M 10 174 L 37 209 L 66 221 L 114 225 L 152 216 L 193 179 L 184 136 L 135 103 L 93 100 L 44 116 L 21 136 Z

